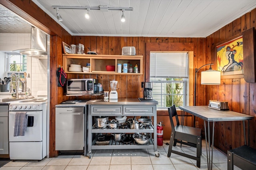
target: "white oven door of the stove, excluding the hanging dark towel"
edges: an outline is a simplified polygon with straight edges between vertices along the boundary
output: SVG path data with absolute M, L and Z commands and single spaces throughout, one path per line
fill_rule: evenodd
M 28 111 L 25 135 L 16 137 L 14 137 L 15 114 L 16 111 L 9 111 L 10 142 L 39 142 L 43 140 L 43 111 Z

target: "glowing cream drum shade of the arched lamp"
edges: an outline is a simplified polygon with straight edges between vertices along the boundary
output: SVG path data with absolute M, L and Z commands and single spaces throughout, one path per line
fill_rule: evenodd
M 207 70 L 201 72 L 201 84 L 220 84 L 220 71 Z

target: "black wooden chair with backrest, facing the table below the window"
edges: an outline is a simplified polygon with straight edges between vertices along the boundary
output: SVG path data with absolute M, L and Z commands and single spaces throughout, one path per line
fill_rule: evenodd
M 196 166 L 200 168 L 200 162 L 201 162 L 200 158 L 201 158 L 201 151 L 202 151 L 201 129 L 180 125 L 175 105 L 168 108 L 168 111 L 170 116 L 172 132 L 171 132 L 170 145 L 169 145 L 167 156 L 170 157 L 171 153 L 175 153 L 181 156 L 185 156 L 187 158 L 194 159 L 196 160 Z M 176 118 L 176 126 L 174 126 L 174 121 L 172 119 L 173 117 Z M 176 143 L 188 145 L 191 147 L 196 147 L 196 156 L 192 156 L 190 154 L 185 154 L 183 152 L 172 150 L 172 146 L 176 146 Z

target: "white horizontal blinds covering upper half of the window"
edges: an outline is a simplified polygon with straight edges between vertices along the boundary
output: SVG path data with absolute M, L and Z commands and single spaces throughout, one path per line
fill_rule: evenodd
M 188 77 L 187 53 L 150 53 L 150 77 Z

